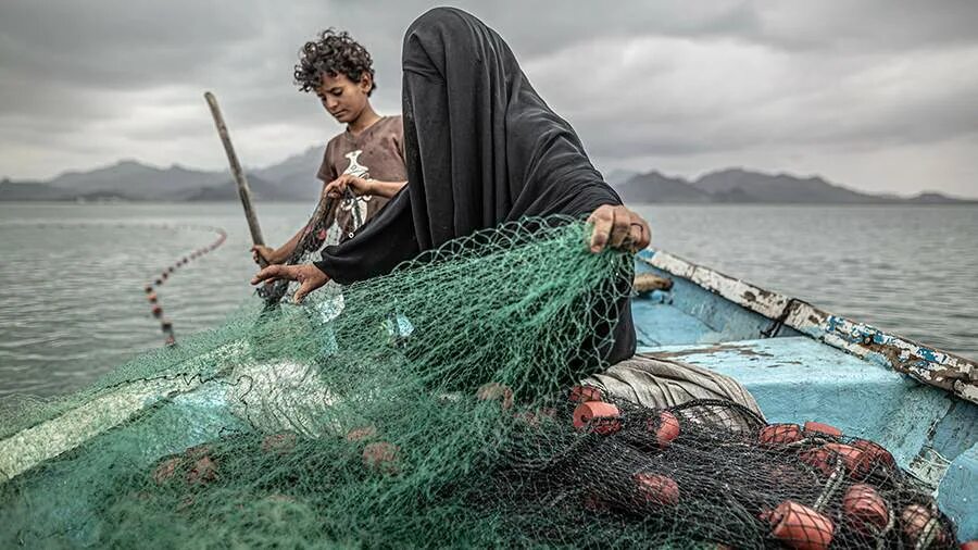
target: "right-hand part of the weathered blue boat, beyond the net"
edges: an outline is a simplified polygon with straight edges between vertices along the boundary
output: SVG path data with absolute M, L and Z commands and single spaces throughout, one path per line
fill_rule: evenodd
M 639 351 L 742 383 L 768 422 L 814 420 L 872 439 L 978 538 L 978 363 L 832 315 L 664 251 L 632 300 Z

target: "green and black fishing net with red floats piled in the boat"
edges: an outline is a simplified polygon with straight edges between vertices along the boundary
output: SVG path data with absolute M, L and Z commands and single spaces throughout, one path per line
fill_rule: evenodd
M 938 548 L 883 449 L 729 401 L 649 409 L 606 367 L 627 254 L 563 218 L 314 303 L 244 309 L 3 410 L 12 547 Z

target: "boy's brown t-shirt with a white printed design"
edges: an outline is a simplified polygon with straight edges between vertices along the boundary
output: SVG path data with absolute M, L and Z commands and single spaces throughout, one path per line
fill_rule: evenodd
M 401 117 L 384 116 L 359 136 L 347 130 L 330 139 L 316 177 L 323 183 L 329 183 L 341 174 L 380 182 L 406 180 L 404 125 Z M 340 241 L 350 238 L 359 223 L 365 223 L 385 204 L 387 199 L 371 195 L 362 195 L 355 201 L 339 201 L 335 216 L 336 225 L 341 232 Z

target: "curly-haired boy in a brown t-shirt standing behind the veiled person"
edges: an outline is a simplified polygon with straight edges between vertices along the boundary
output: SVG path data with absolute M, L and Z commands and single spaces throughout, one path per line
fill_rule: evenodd
M 339 200 L 336 208 L 323 213 L 323 224 L 313 220 L 306 226 L 330 227 L 335 222 L 342 242 L 406 184 L 404 127 L 400 116 L 380 116 L 371 107 L 369 96 L 376 88 L 373 61 L 347 32 L 329 28 L 317 40 L 305 42 L 294 79 L 301 91 L 315 92 L 326 111 L 347 125 L 329 140 L 316 174 L 324 183 L 324 198 Z M 306 227 L 277 249 L 252 247 L 255 262 L 260 257 L 268 264 L 289 261 Z

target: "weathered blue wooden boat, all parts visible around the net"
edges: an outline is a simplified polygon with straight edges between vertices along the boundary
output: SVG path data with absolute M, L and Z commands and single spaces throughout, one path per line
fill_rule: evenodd
M 904 468 L 933 488 L 943 512 L 957 523 L 962 540 L 978 538 L 975 361 L 663 251 L 640 252 L 636 266 L 638 277 L 652 278 L 651 287 L 657 287 L 632 300 L 640 352 L 732 376 L 751 390 L 769 422 L 813 420 L 883 445 Z M 233 342 L 215 353 L 228 363 L 244 347 L 247 342 Z M 277 372 L 290 368 L 301 365 L 278 365 Z M 255 385 L 263 376 L 259 371 L 237 374 Z M 229 412 L 234 396 L 226 391 L 199 378 L 180 378 L 135 382 L 100 395 L 0 440 L 0 484 L 166 399 L 174 414 L 197 428 L 148 445 L 145 460 L 150 467 L 160 457 L 206 441 L 241 422 Z M 79 495 L 72 505 L 84 510 L 85 497 Z

